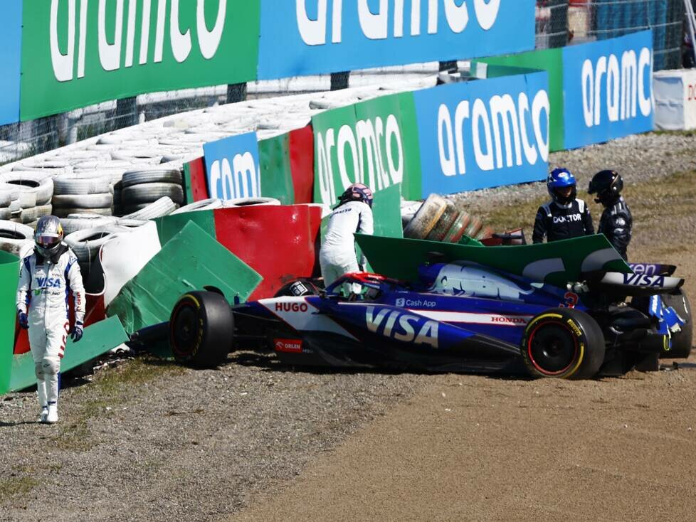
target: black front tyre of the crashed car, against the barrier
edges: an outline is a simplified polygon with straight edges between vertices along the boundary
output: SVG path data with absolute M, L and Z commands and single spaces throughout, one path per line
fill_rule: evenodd
M 234 316 L 225 297 L 189 292 L 169 317 L 169 346 L 174 359 L 194 368 L 216 368 L 231 351 Z

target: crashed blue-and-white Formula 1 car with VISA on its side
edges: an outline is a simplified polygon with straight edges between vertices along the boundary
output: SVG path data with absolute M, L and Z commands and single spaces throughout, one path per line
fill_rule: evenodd
M 358 273 L 234 306 L 191 292 L 172 311 L 169 343 L 178 361 L 207 367 L 266 348 L 293 366 L 576 379 L 655 370 L 659 356 L 688 356 L 692 318 L 674 267 L 642 268 L 561 287 L 477 262 L 425 262 L 413 282 Z M 347 285 L 362 290 L 343 297 Z

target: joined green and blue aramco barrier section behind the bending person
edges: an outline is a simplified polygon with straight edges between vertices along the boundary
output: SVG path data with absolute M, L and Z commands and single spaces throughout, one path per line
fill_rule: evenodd
M 549 159 L 543 71 L 389 95 L 312 117 L 315 201 L 350 183 L 402 183 L 406 199 L 544 179 Z

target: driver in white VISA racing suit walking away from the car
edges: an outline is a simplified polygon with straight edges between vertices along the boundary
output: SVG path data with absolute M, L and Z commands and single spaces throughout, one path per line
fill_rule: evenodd
M 85 289 L 78 258 L 63 243 L 63 227 L 54 215 L 38 220 L 36 247 L 19 267 L 17 315 L 29 330 L 29 347 L 36 372 L 39 422 L 58 422 L 58 373 L 68 334 L 73 341 L 83 336 Z M 73 291 L 75 324 L 70 329 L 68 294 Z

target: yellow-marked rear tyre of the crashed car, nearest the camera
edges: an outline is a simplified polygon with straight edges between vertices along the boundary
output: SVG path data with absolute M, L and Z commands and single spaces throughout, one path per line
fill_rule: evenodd
M 537 378 L 593 378 L 604 362 L 604 335 L 584 311 L 552 308 L 534 316 L 524 328 L 520 354 Z

